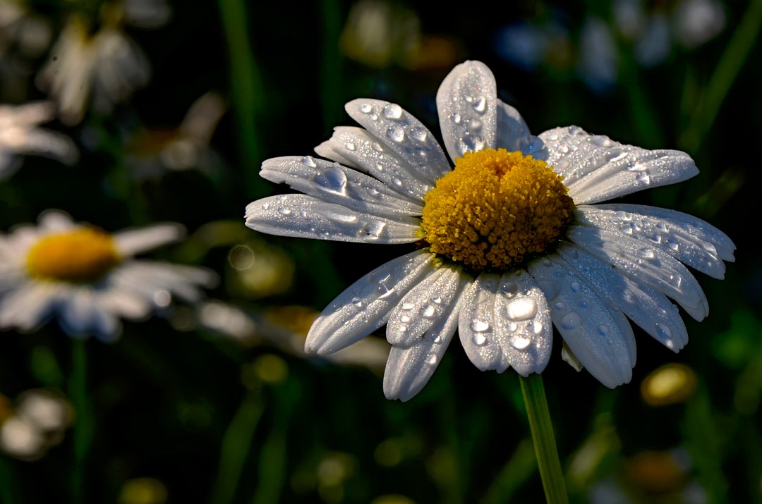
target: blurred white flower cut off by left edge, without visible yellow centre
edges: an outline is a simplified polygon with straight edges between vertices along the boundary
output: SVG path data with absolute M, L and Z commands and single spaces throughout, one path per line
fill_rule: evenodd
M 18 169 L 20 155 L 41 155 L 66 164 L 77 161 L 79 153 L 72 139 L 39 127 L 55 116 L 56 107 L 49 101 L 0 105 L 0 179 Z

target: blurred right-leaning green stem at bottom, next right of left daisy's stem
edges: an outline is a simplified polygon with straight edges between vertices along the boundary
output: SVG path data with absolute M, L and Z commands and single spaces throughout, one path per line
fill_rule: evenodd
M 219 473 L 210 502 L 227 504 L 233 501 L 263 411 L 261 391 L 248 392 L 223 436 Z

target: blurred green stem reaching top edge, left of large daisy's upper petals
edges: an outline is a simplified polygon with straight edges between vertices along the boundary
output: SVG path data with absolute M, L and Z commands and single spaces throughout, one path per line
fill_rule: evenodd
M 248 43 L 246 2 L 219 0 L 217 3 L 230 52 L 230 94 L 232 108 L 239 123 L 242 166 L 259 166 L 262 146 L 257 134 L 256 118 L 264 109 L 264 85 Z M 242 177 L 247 197 L 266 196 L 267 185 L 259 183 L 258 170 L 243 170 Z

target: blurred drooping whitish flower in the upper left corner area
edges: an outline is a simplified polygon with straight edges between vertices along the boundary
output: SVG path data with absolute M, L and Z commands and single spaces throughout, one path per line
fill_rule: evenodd
M 88 100 L 108 113 L 149 76 L 146 56 L 118 23 L 92 33 L 82 17 L 72 15 L 37 74 L 37 87 L 56 100 L 62 122 L 73 125 L 82 120 Z

